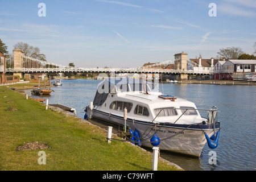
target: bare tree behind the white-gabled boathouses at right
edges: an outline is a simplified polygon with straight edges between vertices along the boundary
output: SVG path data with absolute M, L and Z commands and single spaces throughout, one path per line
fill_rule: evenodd
M 220 49 L 220 51 L 217 53 L 222 59 L 237 59 L 244 52 L 240 47 L 227 47 Z

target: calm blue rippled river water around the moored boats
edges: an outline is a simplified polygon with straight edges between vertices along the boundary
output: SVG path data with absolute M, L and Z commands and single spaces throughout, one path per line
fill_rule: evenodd
M 49 104 L 73 107 L 77 115 L 84 118 L 85 106 L 93 101 L 97 80 L 62 80 L 63 86 L 52 88 Z M 210 149 L 207 144 L 200 158 L 160 151 L 160 156 L 185 170 L 256 170 L 256 87 L 203 84 L 160 84 L 164 94 L 185 98 L 195 102 L 198 109 L 217 106 L 221 121 L 218 147 Z M 26 90 L 30 94 L 30 90 Z M 40 97 L 40 96 L 36 96 Z M 205 111 L 201 115 L 207 116 Z M 209 164 L 216 152 L 217 163 Z

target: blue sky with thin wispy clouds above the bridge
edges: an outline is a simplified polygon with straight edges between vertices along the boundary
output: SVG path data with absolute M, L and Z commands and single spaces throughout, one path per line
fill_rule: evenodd
M 210 59 L 233 46 L 251 55 L 256 42 L 255 0 L 0 0 L 0 6 L 0 39 L 9 53 L 24 42 L 50 63 L 81 68 L 141 67 L 181 52 Z

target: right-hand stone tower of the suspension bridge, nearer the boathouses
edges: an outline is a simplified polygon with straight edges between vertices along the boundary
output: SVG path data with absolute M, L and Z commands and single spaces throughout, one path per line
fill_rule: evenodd
M 174 69 L 181 69 L 182 71 L 187 71 L 187 53 L 176 53 L 174 55 Z M 176 60 L 178 59 L 178 60 Z M 187 80 L 188 75 L 185 73 L 180 74 L 180 80 Z

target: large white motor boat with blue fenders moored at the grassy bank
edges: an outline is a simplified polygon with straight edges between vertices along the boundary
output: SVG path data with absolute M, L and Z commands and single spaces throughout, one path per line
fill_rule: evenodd
M 146 80 L 102 81 L 94 101 L 85 111 L 85 118 L 128 125 L 131 142 L 139 146 L 158 146 L 160 150 L 200 156 L 205 143 L 208 142 L 210 148 L 218 145 L 217 107 L 203 109 L 209 112 L 208 117 L 203 118 L 193 102 L 163 95 Z

